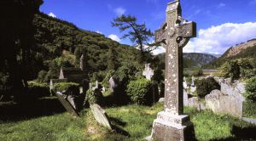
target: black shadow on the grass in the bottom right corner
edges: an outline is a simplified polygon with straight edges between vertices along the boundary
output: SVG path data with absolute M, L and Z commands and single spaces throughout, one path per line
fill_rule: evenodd
M 234 137 L 212 139 L 212 141 L 256 140 L 256 127 L 233 126 L 230 132 Z

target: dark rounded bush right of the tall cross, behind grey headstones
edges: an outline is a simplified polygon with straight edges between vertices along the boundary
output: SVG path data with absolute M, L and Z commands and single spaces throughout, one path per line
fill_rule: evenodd
M 195 82 L 196 92 L 199 98 L 204 98 L 207 94 L 210 94 L 212 90 L 220 89 L 218 82 L 214 78 L 209 77 L 207 79 L 198 80 Z

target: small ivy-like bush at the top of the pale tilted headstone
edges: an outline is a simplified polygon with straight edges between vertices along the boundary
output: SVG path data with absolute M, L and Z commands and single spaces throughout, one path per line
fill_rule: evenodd
M 89 104 L 103 104 L 103 95 L 102 92 L 100 91 L 100 89 L 96 88 L 95 90 L 89 89 L 86 92 L 86 96 L 85 96 L 85 104 L 89 103 Z

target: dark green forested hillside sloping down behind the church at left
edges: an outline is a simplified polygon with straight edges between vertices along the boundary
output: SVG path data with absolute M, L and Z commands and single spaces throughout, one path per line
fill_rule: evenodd
M 41 70 L 47 71 L 48 77 L 53 78 L 61 67 L 79 67 L 82 54 L 90 76 L 94 72 L 118 68 L 125 62 L 137 63 L 139 51 L 136 48 L 114 42 L 94 31 L 81 30 L 67 21 L 41 13 L 35 15 L 33 25 L 36 30 L 37 63 L 32 78 L 36 78 Z M 63 50 L 68 52 L 63 54 Z M 69 61 L 68 57 L 74 61 Z M 55 64 L 57 66 L 52 66 Z M 113 68 L 109 68 L 110 64 L 114 64 Z M 53 72 L 51 68 L 58 69 Z

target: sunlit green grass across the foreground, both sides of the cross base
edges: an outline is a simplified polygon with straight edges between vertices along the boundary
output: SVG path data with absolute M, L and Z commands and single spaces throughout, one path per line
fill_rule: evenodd
M 108 116 L 118 132 L 99 126 L 88 109 L 83 110 L 77 118 L 66 112 L 23 121 L 0 121 L 0 140 L 144 140 L 150 135 L 153 121 L 160 110 L 163 110 L 160 103 L 153 107 L 126 105 L 108 108 Z M 185 108 L 185 112 L 195 124 L 198 140 L 237 140 L 247 138 L 247 135 L 239 133 L 256 129 L 244 121 L 214 115 L 209 110 L 199 112 Z M 237 131 L 240 132 L 237 134 Z

